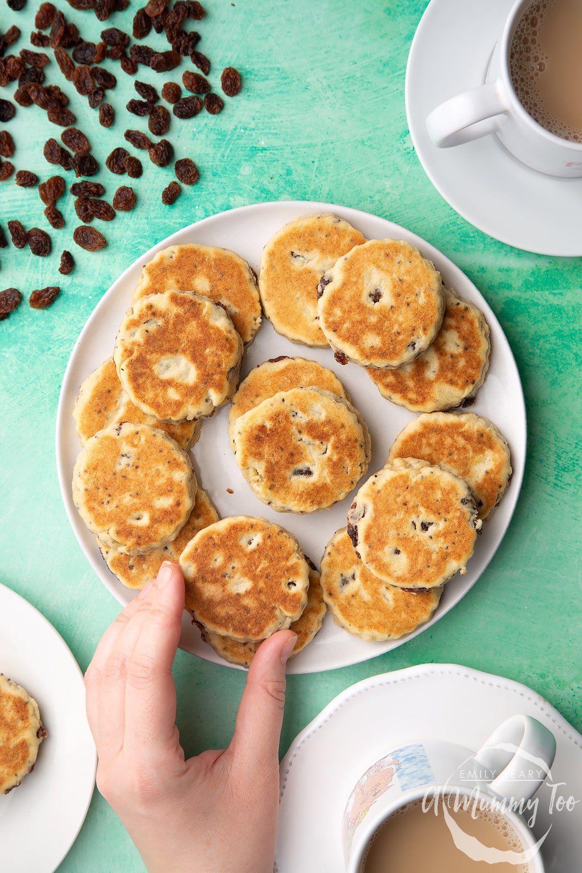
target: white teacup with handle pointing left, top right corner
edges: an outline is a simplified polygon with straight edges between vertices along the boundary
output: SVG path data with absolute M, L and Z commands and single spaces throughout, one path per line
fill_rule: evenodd
M 582 175 L 582 143 L 564 140 L 537 123 L 517 98 L 510 75 L 511 40 L 531 0 L 517 0 L 497 42 L 486 84 L 457 94 L 433 109 L 428 134 L 439 148 L 496 134 L 512 155 L 547 175 Z

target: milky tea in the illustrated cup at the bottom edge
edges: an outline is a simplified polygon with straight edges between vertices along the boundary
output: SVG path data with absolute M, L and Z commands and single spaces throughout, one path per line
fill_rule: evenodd
M 479 811 L 478 805 L 473 811 L 470 799 L 464 809 L 462 797 L 449 794 L 443 799 L 441 795 L 426 812 L 420 800 L 407 803 L 391 815 L 373 835 L 361 866 L 362 873 L 427 870 L 430 873 L 530 873 L 529 863 L 473 861 L 457 849 L 442 812 L 444 801 L 456 824 L 483 846 L 506 852 L 524 851 L 520 837 L 501 813 L 487 808 Z M 435 807 L 438 815 L 435 815 Z

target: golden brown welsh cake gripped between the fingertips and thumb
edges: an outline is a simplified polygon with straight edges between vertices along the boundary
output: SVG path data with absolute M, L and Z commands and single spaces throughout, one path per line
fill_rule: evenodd
M 195 621 L 242 643 L 288 628 L 307 603 L 309 567 L 298 541 L 266 519 L 238 515 L 205 527 L 180 566 Z

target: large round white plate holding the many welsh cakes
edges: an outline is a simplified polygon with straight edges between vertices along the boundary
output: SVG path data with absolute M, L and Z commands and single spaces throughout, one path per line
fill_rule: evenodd
M 483 534 L 477 540 L 475 555 L 469 563 L 467 574 L 457 576 L 448 582 L 433 621 L 428 622 L 415 633 L 421 633 L 422 630 L 430 627 L 455 606 L 455 603 L 461 600 L 475 584 L 496 552 L 517 503 L 524 474 L 526 430 L 524 395 L 516 363 L 503 330 L 486 301 L 469 278 L 440 251 L 398 224 L 393 224 L 384 218 L 330 203 L 257 203 L 254 206 L 244 206 L 191 224 L 168 239 L 162 240 L 138 258 L 112 285 L 93 310 L 72 350 L 65 370 L 57 413 L 57 469 L 60 490 L 72 529 L 81 548 L 99 579 L 120 603 L 126 604 L 134 593 L 125 588 L 109 572 L 101 558 L 95 537 L 87 530 L 72 503 L 72 468 L 80 450 L 79 438 L 72 420 L 72 408 L 80 383 L 92 372 L 92 369 L 112 354 L 115 334 L 123 313 L 131 304 L 132 292 L 140 276 L 141 266 L 150 260 L 156 251 L 178 243 L 221 245 L 239 252 L 243 258 L 248 259 L 250 265 L 257 268 L 263 246 L 276 230 L 293 217 L 321 210 L 333 211 L 346 218 L 366 237 L 402 238 L 418 246 L 423 254 L 435 262 L 446 284 L 455 288 L 462 298 L 470 300 L 483 310 L 490 326 L 492 347 L 490 370 L 471 409 L 490 418 L 509 440 L 513 478 L 501 505 L 484 526 Z M 334 360 L 331 349 L 294 345 L 275 333 L 266 319 L 257 333 L 257 338 L 245 353 L 243 375 L 256 364 L 277 357 L 279 354 L 304 355 L 320 361 L 339 375 L 370 429 L 373 450 L 370 472 L 380 469 L 386 461 L 394 436 L 414 417 L 412 413 L 383 400 L 373 382 L 355 364 L 342 367 Z M 262 515 L 272 519 L 295 533 L 305 553 L 318 563 L 332 533 L 346 525 L 347 510 L 352 497 L 348 496 L 332 509 L 315 515 L 293 515 L 272 511 L 250 491 L 236 466 L 227 434 L 228 411 L 227 405 L 202 424 L 202 435 L 194 447 L 192 454 L 195 470 L 197 474 L 200 473 L 199 480 L 202 487 L 209 492 L 221 516 L 240 513 Z M 227 488 L 231 488 L 234 494 L 229 494 Z M 199 631 L 188 622 L 186 615 L 182 628 L 183 649 L 210 661 L 224 663 L 214 650 L 206 643 L 202 643 Z M 289 672 L 311 673 L 316 670 L 345 667 L 394 649 L 410 636 L 415 635 L 391 643 L 365 643 L 356 636 L 346 634 L 346 631 L 334 625 L 331 616 L 327 615 L 324 627 L 313 643 L 291 659 Z

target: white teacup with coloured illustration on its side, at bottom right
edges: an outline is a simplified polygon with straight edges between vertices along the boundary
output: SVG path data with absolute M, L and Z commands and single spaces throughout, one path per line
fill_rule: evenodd
M 527 715 L 504 721 L 477 753 L 440 740 L 414 742 L 387 753 L 368 767 L 346 803 L 341 833 L 347 873 L 361 873 L 373 835 L 405 804 L 438 794 L 475 796 L 476 789 L 497 811 L 503 807 L 524 853 L 531 855 L 531 873 L 544 873 L 536 838 L 524 817 L 505 809 L 502 801 L 514 801 L 516 808 L 519 801 L 530 800 L 550 772 L 555 754 L 554 735 Z

